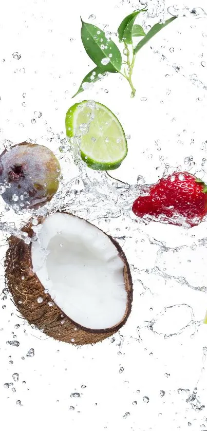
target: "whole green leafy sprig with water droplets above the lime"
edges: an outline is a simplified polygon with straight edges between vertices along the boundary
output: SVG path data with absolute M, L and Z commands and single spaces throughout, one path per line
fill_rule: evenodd
M 146 12 L 146 9 L 135 10 L 127 15 L 118 28 L 119 42 L 124 44 L 124 59 L 118 46 L 111 41 L 110 37 L 107 37 L 103 30 L 95 25 L 84 23 L 81 19 L 83 46 L 96 67 L 93 66 L 94 68 L 87 73 L 78 91 L 72 97 L 90 89 L 95 82 L 103 79 L 108 73 L 120 73 L 131 87 L 131 97 L 135 96 L 136 89 L 132 81 L 132 74 L 137 53 L 156 33 L 176 19 L 176 16 L 173 16 L 164 23 L 157 23 L 150 28 L 148 33 L 145 33 L 139 24 L 135 24 L 135 20 L 141 12 Z M 134 38 L 141 38 L 136 46 L 134 46 Z

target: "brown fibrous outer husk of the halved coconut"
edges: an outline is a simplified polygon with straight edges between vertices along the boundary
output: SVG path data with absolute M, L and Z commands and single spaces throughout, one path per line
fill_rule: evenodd
M 42 223 L 43 220 L 43 217 L 40 217 L 39 223 Z M 23 229 L 23 232 L 27 232 L 32 237 L 34 235 L 32 224 L 28 224 Z M 93 344 L 103 341 L 125 324 L 133 301 L 133 283 L 123 250 L 114 238 L 108 237 L 116 246 L 124 262 L 127 307 L 123 320 L 117 326 L 104 330 L 84 328 L 66 316 L 54 303 L 50 295 L 44 292 L 44 287 L 39 278 L 32 272 L 31 244 L 27 245 L 22 239 L 18 239 L 15 236 L 9 238 L 9 248 L 5 259 L 6 282 L 16 308 L 29 324 L 35 325 L 35 327 L 55 340 L 76 345 Z M 42 303 L 37 303 L 38 297 L 43 298 Z M 50 307 L 48 302 L 52 302 L 53 306 Z

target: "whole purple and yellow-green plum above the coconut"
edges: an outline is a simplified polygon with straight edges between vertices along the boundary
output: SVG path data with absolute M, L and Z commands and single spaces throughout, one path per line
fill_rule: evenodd
M 60 170 L 58 159 L 44 145 L 22 142 L 5 149 L 0 155 L 4 201 L 19 209 L 42 207 L 59 188 Z

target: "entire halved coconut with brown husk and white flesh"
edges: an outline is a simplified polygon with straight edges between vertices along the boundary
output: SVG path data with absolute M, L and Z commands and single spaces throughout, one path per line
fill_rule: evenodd
M 6 254 L 6 281 L 21 314 L 54 339 L 77 345 L 120 329 L 133 287 L 119 244 L 68 213 L 41 218 L 37 228 L 30 245 L 11 236 Z M 23 230 L 34 235 L 31 224 Z

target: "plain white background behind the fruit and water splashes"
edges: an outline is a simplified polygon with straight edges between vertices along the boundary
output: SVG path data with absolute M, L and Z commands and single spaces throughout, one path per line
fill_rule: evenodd
M 166 8 L 173 5 L 165 3 L 149 0 L 146 25 L 169 17 Z M 184 6 L 205 8 L 202 0 L 179 3 L 179 8 Z M 71 100 L 93 67 L 81 44 L 80 15 L 87 22 L 94 14 L 96 20 L 91 23 L 101 28 L 108 25 L 105 30 L 116 32 L 123 17 L 139 7 L 133 0 L 4 2 L 0 23 L 2 149 L 5 139 L 18 143 L 30 138 L 59 154 L 59 141 L 51 138 L 65 136 L 67 109 L 73 101 L 94 99 L 114 111 L 130 135 L 127 159 L 114 173 L 119 179 L 133 184 L 142 175 L 146 183 L 156 182 L 168 164 L 169 172 L 181 166 L 207 180 L 203 161 L 207 158 L 207 68 L 201 65 L 207 62 L 206 18 L 179 18 L 140 51 L 134 71 L 135 99 L 130 99 L 128 84 L 114 74 Z M 141 18 L 139 22 L 145 24 Z M 21 54 L 20 60 L 13 58 L 14 52 Z M 34 111 L 41 111 L 42 116 L 36 118 Z M 186 157 L 192 157 L 187 164 Z M 69 179 L 72 166 L 65 159 L 61 163 Z M 1 221 L 8 219 L 20 226 L 21 218 L 4 212 L 3 201 L 1 211 Z M 77 348 L 42 336 L 17 317 L 10 297 L 0 299 L 2 426 L 8 431 L 207 429 L 207 407 L 195 410 L 207 400 L 203 355 L 207 329 L 202 325 L 207 300 L 200 291 L 206 286 L 206 222 L 190 231 L 155 222 L 144 226 L 133 217 L 109 224 L 102 219 L 100 224 L 112 235 L 120 227 L 120 236 L 126 236 L 120 243 L 133 272 L 133 312 L 115 340 Z M 156 240 L 172 249 L 163 251 Z M 3 235 L 1 250 L 3 264 Z M 4 288 L 3 268 L 1 280 Z M 152 320 L 156 321 L 154 331 L 147 328 Z M 20 328 L 15 329 L 16 324 Z M 20 347 L 6 344 L 13 340 L 12 332 Z M 33 358 L 26 357 L 30 348 Z M 18 382 L 12 379 L 14 372 L 19 374 Z M 16 392 L 12 386 L 4 387 L 10 382 Z M 195 386 L 200 399 L 191 406 L 186 399 Z M 160 390 L 165 391 L 163 397 Z M 74 392 L 80 398 L 71 398 Z M 145 396 L 148 403 L 143 401 Z

